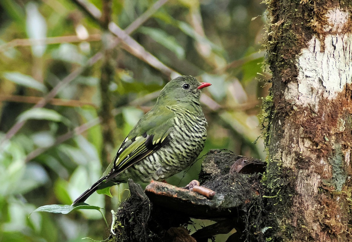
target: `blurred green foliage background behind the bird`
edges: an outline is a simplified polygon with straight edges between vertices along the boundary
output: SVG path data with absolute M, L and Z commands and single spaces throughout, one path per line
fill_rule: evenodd
M 116 123 L 110 127 L 111 157 L 175 77 L 128 52 L 128 42 L 109 49 L 114 35 L 75 2 L 0 1 L 0 241 L 102 239 L 108 229 L 98 211 L 29 214 L 46 204 L 71 204 L 110 162 L 102 158 L 106 124 L 98 117 L 106 95 L 100 93 L 102 65 L 114 70 L 108 85 Z M 209 127 L 201 156 L 209 149 L 229 149 L 265 158 L 263 141 L 253 144 L 260 133 L 260 98 L 268 90 L 260 80 L 270 78 L 259 51 L 265 23 L 260 2 L 170 0 L 130 35 L 176 73 L 213 84 L 202 96 Z M 102 1 L 86 3 L 103 9 Z M 154 3 L 114 0 L 112 13 L 102 14 L 125 29 Z M 99 52 L 108 53 L 108 61 L 90 65 Z M 54 96 L 41 105 L 50 93 Z M 201 160 L 168 182 L 183 186 L 197 178 L 200 166 Z M 114 206 L 127 188 L 113 187 Z M 95 193 L 87 202 L 104 207 L 105 196 Z

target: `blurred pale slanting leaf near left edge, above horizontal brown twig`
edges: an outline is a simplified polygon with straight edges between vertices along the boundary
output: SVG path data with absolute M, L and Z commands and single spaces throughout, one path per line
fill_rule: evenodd
M 43 83 L 40 83 L 30 75 L 24 75 L 19 72 L 3 72 L 2 76 L 7 80 L 12 81 L 19 85 L 30 87 L 41 92 L 48 91 Z

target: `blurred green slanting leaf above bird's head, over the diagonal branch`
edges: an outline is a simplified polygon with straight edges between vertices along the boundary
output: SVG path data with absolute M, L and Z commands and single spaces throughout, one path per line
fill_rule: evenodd
M 150 27 L 140 27 L 138 30 L 145 35 L 149 35 L 153 40 L 174 52 L 178 59 L 184 59 L 184 49 L 177 43 L 174 36 L 167 34 L 161 29 Z

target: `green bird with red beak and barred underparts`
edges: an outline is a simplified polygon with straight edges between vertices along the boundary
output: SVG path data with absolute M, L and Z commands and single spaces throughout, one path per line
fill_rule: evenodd
M 200 105 L 200 83 L 192 76 L 171 80 L 155 106 L 133 127 L 101 178 L 74 202 L 128 179 L 163 181 L 188 167 L 203 150 L 207 121 Z

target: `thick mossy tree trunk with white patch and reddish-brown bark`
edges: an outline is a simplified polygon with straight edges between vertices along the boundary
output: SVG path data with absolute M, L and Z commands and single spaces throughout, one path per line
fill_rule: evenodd
M 352 1 L 268 0 L 272 241 L 352 241 Z

